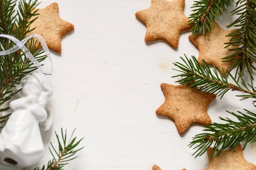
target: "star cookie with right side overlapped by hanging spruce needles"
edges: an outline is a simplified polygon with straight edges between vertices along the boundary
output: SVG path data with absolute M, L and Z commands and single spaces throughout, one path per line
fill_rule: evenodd
M 198 62 L 203 65 L 202 59 L 207 62 L 207 65 L 214 64 L 216 67 L 220 68 L 221 74 L 224 75 L 222 68 L 225 73 L 226 70 L 230 69 L 232 62 L 223 62 L 222 58 L 227 57 L 230 54 L 233 54 L 234 51 L 229 51 L 229 49 L 238 48 L 239 46 L 229 46 L 224 48 L 226 45 L 225 42 L 230 42 L 230 37 L 226 35 L 236 31 L 233 30 L 224 30 L 218 23 L 215 23 L 215 28 L 212 29 L 210 33 L 207 32 L 206 36 L 203 34 L 189 35 L 189 40 L 198 48 L 199 57 Z

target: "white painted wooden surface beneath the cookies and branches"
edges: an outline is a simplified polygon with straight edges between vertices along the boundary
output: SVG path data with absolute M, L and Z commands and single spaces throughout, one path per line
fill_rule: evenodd
M 43 0 L 39 7 L 53 2 L 75 31 L 62 38 L 61 55 L 52 52 L 54 125 L 43 134 L 44 142 L 56 143 L 54 130 L 61 127 L 69 134 L 76 127 L 76 136 L 84 137 L 84 149 L 64 170 L 151 170 L 153 164 L 163 170 L 204 170 L 207 155 L 194 159 L 187 147 L 203 128 L 193 125 L 180 136 L 172 120 L 155 114 L 164 101 L 160 84 L 176 84 L 172 62 L 183 54 L 198 56 L 188 40 L 191 33 L 181 34 L 177 50 L 163 41 L 145 43 L 146 28 L 134 14 L 148 8 L 150 0 Z M 192 3 L 186 0 L 186 16 Z M 218 23 L 225 28 L 232 20 L 226 15 Z M 235 94 L 209 105 L 213 122 L 220 122 L 218 116 L 232 118 L 225 110 L 255 111 L 250 101 L 240 102 Z M 256 164 L 255 147 L 248 146 L 244 157 Z M 49 159 L 47 150 L 39 165 Z

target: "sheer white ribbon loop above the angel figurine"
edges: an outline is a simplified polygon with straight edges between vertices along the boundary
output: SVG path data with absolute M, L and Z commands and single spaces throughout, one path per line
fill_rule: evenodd
M 11 36 L 11 35 L 7 35 L 7 34 L 0 34 L 0 37 L 4 37 L 4 38 L 8 38 L 9 40 L 12 40 L 16 45 L 6 51 L 0 51 L 0 55 L 7 55 L 7 54 L 12 54 L 13 52 L 17 51 L 17 50 L 21 50 L 23 51 L 23 53 L 26 54 L 26 57 L 28 57 L 30 59 L 30 61 L 38 68 L 38 71 L 46 74 L 43 72 L 42 66 L 41 64 L 35 59 L 35 57 L 30 53 L 30 51 L 28 50 L 28 48 L 26 48 L 25 44 L 26 42 L 33 38 L 33 37 L 37 37 L 38 40 L 41 42 L 41 45 L 44 49 L 44 52 L 47 55 L 47 58 L 49 59 L 49 61 L 51 62 L 51 70 L 49 71 L 49 75 L 52 74 L 52 58 L 51 58 L 51 54 L 49 51 L 49 48 L 47 47 L 47 44 L 44 40 L 44 38 L 41 35 L 38 34 L 31 34 L 28 37 L 24 38 L 23 40 L 18 40 L 17 38 Z

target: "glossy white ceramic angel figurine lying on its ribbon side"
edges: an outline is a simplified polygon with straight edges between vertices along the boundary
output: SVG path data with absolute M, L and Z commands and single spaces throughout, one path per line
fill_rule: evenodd
M 21 79 L 17 99 L 10 102 L 12 115 L 0 133 L 0 163 L 29 167 L 44 154 L 39 123 L 47 120 L 45 105 L 52 96 L 47 77 L 33 73 Z

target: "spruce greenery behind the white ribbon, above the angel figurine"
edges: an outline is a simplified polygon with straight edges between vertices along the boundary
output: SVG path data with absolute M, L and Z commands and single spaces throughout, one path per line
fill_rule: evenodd
M 0 33 L 23 40 L 26 34 L 34 29 L 30 28 L 31 23 L 35 21 L 31 18 L 38 15 L 35 10 L 38 4 L 37 0 L 29 0 L 28 3 L 26 0 L 20 0 L 18 3 L 16 0 L 0 0 Z M 16 5 L 17 10 L 15 10 Z M 0 38 L 1 51 L 12 48 L 14 45 L 12 41 Z M 47 57 L 44 51 L 38 50 L 39 46 L 36 45 L 34 39 L 27 42 L 27 45 L 38 62 L 42 62 Z M 0 113 L 8 109 L 3 108 L 3 105 L 18 92 L 14 92 L 13 88 L 20 82 L 20 79 L 36 69 L 22 51 L 0 56 Z M 0 117 L 1 123 L 5 120 L 6 116 Z

